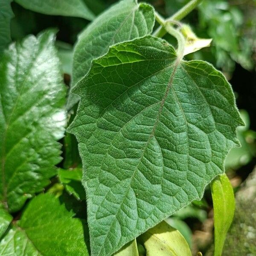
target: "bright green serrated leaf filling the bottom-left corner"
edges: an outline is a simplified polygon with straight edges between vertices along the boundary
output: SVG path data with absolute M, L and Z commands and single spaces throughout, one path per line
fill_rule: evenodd
M 86 226 L 72 217 L 57 198 L 38 195 L 0 241 L 0 255 L 89 256 Z

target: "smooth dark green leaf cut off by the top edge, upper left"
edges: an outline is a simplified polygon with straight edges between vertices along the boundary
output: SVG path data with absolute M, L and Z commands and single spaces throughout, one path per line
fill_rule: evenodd
M 22 7 L 47 15 L 81 17 L 93 20 L 94 14 L 83 0 L 15 0 Z

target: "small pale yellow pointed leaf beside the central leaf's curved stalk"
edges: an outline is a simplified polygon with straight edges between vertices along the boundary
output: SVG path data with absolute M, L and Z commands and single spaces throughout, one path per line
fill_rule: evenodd
M 209 47 L 212 42 L 212 39 L 198 38 L 188 25 L 183 25 L 180 32 L 186 38 L 184 55 Z

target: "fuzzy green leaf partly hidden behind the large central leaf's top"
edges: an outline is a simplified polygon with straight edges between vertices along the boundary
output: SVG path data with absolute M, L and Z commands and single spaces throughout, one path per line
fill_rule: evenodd
M 79 36 L 74 49 L 73 87 L 90 69 L 94 58 L 108 52 L 111 45 L 150 34 L 154 26 L 154 10 L 137 0 L 122 0 L 97 17 Z M 70 94 L 67 108 L 79 101 Z

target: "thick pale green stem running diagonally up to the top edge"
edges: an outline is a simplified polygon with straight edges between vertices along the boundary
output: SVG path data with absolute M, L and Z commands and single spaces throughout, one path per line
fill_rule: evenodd
M 153 33 L 153 35 L 156 37 L 163 37 L 164 35 L 166 35 L 167 31 L 165 29 L 164 23 L 171 20 L 183 19 L 184 17 L 186 17 L 186 15 L 192 12 L 195 9 L 195 7 L 198 6 L 198 4 L 201 2 L 202 0 L 191 0 L 189 3 L 183 6 L 179 11 L 177 11 L 174 15 L 169 17 L 167 20 L 163 20 L 163 18 L 157 12 L 155 12 L 156 20 L 161 24 L 161 26 L 159 26 L 159 28 Z

